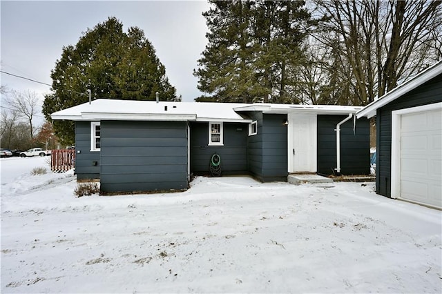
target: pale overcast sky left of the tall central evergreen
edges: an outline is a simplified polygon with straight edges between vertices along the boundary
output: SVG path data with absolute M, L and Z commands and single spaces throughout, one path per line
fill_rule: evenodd
M 82 32 L 108 17 L 144 31 L 166 67 L 166 75 L 182 95 L 202 95 L 193 69 L 206 46 L 206 1 L 0 1 L 1 70 L 52 84 L 50 70 L 63 46 L 75 45 Z M 1 73 L 1 85 L 35 90 L 43 99 L 50 87 Z

